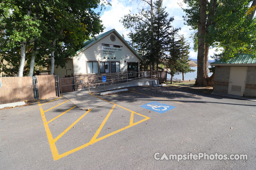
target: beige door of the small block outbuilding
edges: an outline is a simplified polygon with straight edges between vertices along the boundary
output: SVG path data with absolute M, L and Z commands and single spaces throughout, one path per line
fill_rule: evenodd
M 243 96 L 247 67 L 231 67 L 228 94 Z

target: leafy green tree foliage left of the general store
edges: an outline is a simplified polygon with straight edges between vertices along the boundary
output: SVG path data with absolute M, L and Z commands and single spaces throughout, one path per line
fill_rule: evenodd
M 27 41 L 23 75 L 27 75 L 33 50 L 36 51 L 36 68 L 48 66 L 51 51 L 55 51 L 56 65 L 65 67 L 64 58 L 74 56 L 85 40 L 103 31 L 100 13 L 94 9 L 106 4 L 110 4 L 108 0 L 1 2 L 0 52 L 9 66 L 3 71 L 8 75 L 17 74 L 22 41 Z M 28 9 L 31 9 L 30 16 L 26 15 Z

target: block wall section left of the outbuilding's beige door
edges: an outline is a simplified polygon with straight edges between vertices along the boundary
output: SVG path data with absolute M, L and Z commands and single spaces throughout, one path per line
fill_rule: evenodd
M 213 91 L 216 93 L 228 93 L 230 66 L 215 67 Z

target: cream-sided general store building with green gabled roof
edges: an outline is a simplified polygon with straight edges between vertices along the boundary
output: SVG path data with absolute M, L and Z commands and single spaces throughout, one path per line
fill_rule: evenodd
M 85 41 L 84 47 L 72 58 L 66 58 L 66 68 L 54 68 L 59 78 L 76 75 L 97 75 L 139 71 L 142 58 L 115 30 Z

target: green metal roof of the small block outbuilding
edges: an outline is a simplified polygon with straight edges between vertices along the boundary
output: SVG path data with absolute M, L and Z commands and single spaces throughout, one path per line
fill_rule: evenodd
M 256 59 L 253 59 L 253 56 L 250 54 L 239 53 L 227 61 L 218 60 L 210 63 L 210 65 L 212 64 L 256 64 Z

